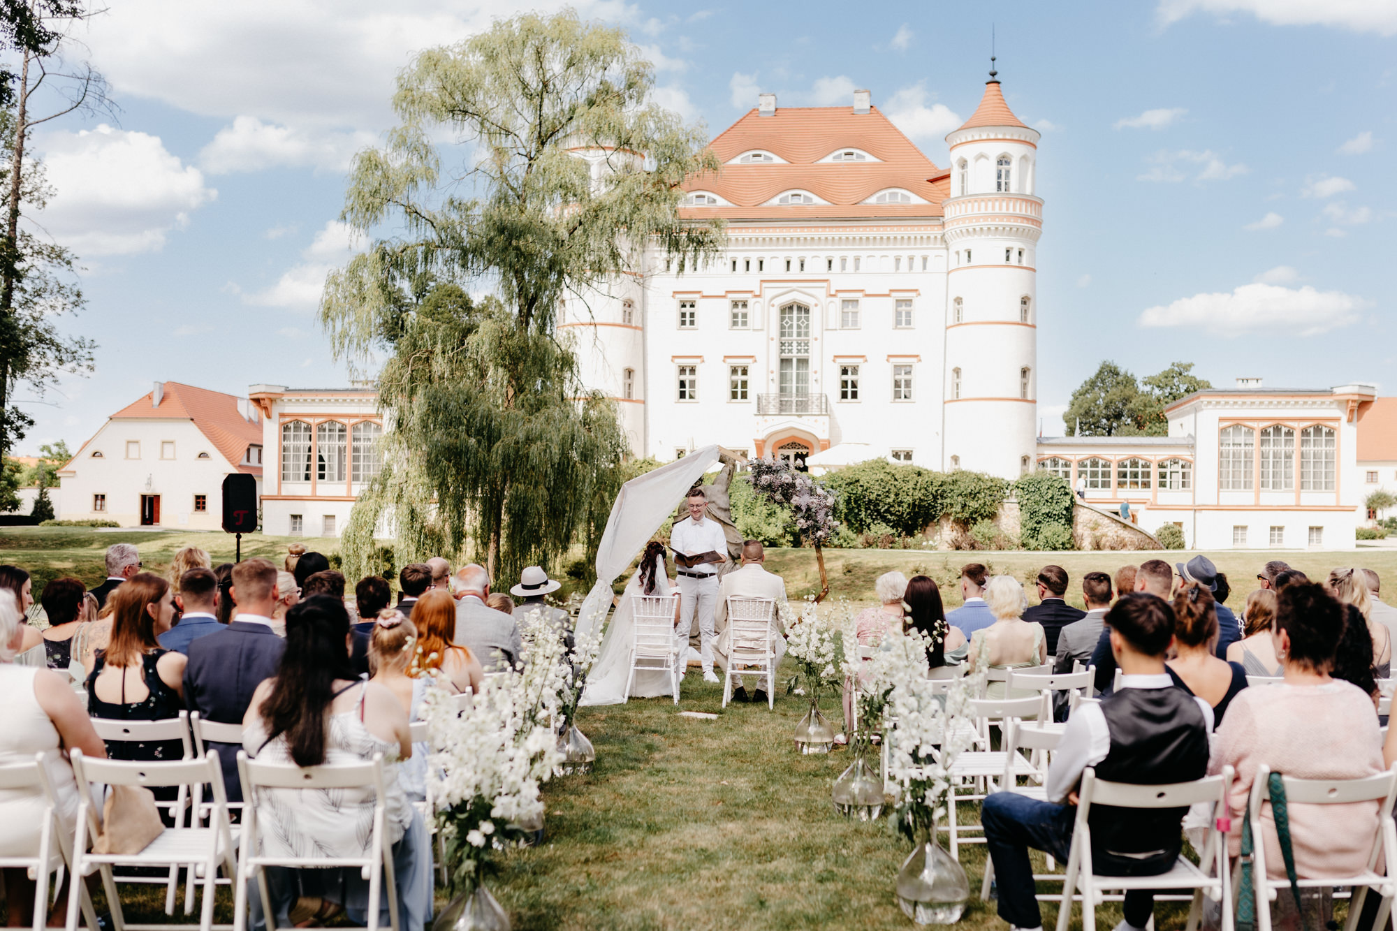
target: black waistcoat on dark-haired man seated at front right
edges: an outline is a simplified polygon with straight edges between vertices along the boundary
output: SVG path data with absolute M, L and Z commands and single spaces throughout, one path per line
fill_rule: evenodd
M 1111 732 L 1111 752 L 1097 763 L 1097 779 L 1162 786 L 1207 773 L 1207 721 L 1183 689 L 1120 689 L 1101 700 L 1101 713 Z M 1186 811 L 1092 805 L 1088 823 L 1097 872 L 1168 872 L 1183 846 L 1179 822 Z

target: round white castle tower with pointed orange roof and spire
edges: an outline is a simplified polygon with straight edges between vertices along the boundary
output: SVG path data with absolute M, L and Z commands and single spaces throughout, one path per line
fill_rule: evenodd
M 1004 103 L 993 70 L 979 108 L 946 137 L 946 470 L 1014 478 L 1034 467 L 1038 138 Z

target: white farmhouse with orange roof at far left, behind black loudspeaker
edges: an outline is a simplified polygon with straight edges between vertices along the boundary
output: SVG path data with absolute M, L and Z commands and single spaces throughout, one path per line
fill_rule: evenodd
M 261 452 L 261 414 L 247 398 L 156 382 L 59 470 L 59 517 L 218 530 L 224 477 L 256 475 L 260 489 Z

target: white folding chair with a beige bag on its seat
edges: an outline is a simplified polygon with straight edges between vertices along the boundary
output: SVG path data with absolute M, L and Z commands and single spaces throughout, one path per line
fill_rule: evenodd
M 102 888 L 106 890 L 106 906 L 112 913 L 115 931 L 170 931 L 176 928 L 210 931 L 214 927 L 214 882 L 218 868 L 224 867 L 229 876 L 233 875 L 235 868 L 233 836 L 228 825 L 228 798 L 224 794 L 224 770 L 218 766 L 218 753 L 208 753 L 201 759 L 148 762 L 87 759 L 82 756 L 82 751 L 74 749 L 71 759 L 73 776 L 78 783 L 78 826 L 73 843 L 74 878 L 68 883 L 67 931 L 77 931 L 78 927 L 78 899 L 82 888 L 80 876 L 91 875 L 94 869 L 102 874 Z M 180 794 L 186 795 L 191 786 L 204 783 L 214 793 L 208 828 L 197 823 L 184 826 L 180 823 L 183 819 L 177 819 L 175 828 L 166 828 L 140 853 L 99 854 L 88 850 L 91 842 L 101 832 L 91 786 L 141 786 L 147 788 L 179 786 Z M 116 879 L 112 875 L 112 867 L 117 864 L 168 867 L 172 878 L 180 867 L 196 871 L 204 886 L 198 924 L 126 924 L 116 892 Z M 165 913 L 173 913 L 173 886 L 166 900 Z

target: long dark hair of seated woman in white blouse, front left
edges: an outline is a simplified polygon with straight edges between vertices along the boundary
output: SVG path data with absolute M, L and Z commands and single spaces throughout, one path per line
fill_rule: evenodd
M 345 649 L 348 635 L 349 612 L 338 598 L 312 596 L 286 612 L 286 650 L 258 713 L 267 742 L 285 734 L 298 766 L 326 762 L 326 719 L 335 679 L 355 678 Z

